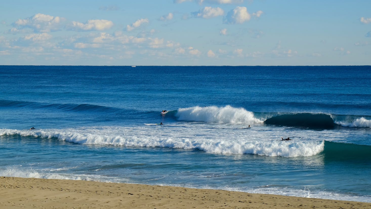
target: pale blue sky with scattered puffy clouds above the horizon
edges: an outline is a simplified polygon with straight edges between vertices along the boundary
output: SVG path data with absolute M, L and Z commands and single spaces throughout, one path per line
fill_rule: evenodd
M 371 65 L 371 1 L 4 1 L 0 65 Z

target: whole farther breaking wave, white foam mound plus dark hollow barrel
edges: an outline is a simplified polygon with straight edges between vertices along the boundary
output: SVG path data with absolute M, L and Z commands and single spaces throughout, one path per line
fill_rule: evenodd
M 250 112 L 244 108 L 225 107 L 188 107 L 179 108 L 175 117 L 181 121 L 216 122 L 216 123 L 265 123 L 290 127 L 331 129 L 342 127 L 371 128 L 371 117 L 360 115 L 335 115 L 324 113 L 277 113 Z

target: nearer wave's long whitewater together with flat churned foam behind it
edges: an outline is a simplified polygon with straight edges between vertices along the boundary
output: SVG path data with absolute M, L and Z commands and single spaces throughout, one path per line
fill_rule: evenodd
M 148 126 L 147 126 L 148 127 Z M 313 156 L 324 150 L 324 141 L 278 141 L 246 137 L 246 132 L 235 129 L 192 130 L 168 127 L 161 129 L 105 128 L 103 130 L 1 130 L 1 135 L 19 134 L 42 138 L 58 138 L 78 144 L 113 145 L 126 147 L 170 147 L 198 149 L 208 153 L 257 154 L 262 156 L 299 157 Z M 161 131 L 162 134 L 158 134 Z M 203 131 L 204 134 L 200 134 Z M 194 134 L 199 135 L 194 135 Z M 209 134 L 209 135 L 206 135 Z M 263 135 L 264 136 L 264 135 Z

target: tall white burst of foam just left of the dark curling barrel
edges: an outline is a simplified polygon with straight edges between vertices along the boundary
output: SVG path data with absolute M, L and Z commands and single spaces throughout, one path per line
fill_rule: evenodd
M 178 120 L 216 123 L 262 123 L 253 112 L 244 108 L 225 107 L 188 107 L 179 108 L 175 114 Z

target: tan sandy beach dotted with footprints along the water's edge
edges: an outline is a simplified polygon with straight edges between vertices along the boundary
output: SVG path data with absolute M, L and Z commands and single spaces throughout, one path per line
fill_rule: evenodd
M 0 177 L 0 208 L 371 208 L 371 203 L 82 180 Z

